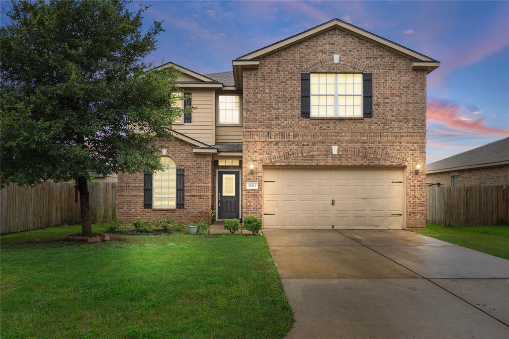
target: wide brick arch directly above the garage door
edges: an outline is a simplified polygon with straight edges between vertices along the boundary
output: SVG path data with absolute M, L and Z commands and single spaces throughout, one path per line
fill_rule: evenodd
M 268 165 L 272 162 L 277 162 L 281 160 L 289 160 L 294 158 L 303 158 L 314 155 L 328 155 L 335 156 L 332 154 L 332 150 L 330 146 L 317 146 L 313 148 L 305 148 L 298 149 L 293 151 L 284 151 L 278 152 L 271 155 L 266 155 L 262 157 L 261 163 L 262 165 Z M 374 159 L 384 159 L 394 162 L 400 165 L 406 165 L 408 162 L 408 158 L 402 155 L 393 154 L 385 151 L 377 151 L 367 148 L 355 148 L 355 147 L 338 147 L 337 155 L 356 155 L 367 158 Z

